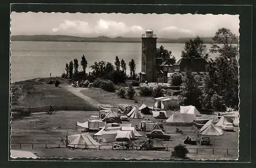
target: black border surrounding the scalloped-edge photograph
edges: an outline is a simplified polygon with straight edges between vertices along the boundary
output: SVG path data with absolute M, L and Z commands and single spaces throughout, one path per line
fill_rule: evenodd
M 39 3 L 39 1 L 36 1 Z M 202 1 L 201 1 L 202 2 Z M 253 145 L 253 129 L 256 128 L 254 123 L 251 122 L 253 116 L 252 109 L 255 107 L 254 95 L 255 89 L 252 86 L 256 86 L 255 81 L 255 68 L 252 69 L 253 63 L 255 63 L 255 57 L 253 59 L 252 53 L 255 53 L 255 47 L 252 47 L 252 41 L 255 37 L 252 36 L 253 27 L 253 9 L 254 6 L 247 3 L 246 5 L 241 4 L 241 2 L 237 1 L 236 3 L 230 4 L 218 4 L 223 3 L 222 1 L 212 1 L 206 3 L 200 3 L 200 1 L 193 1 L 193 5 L 189 1 L 172 1 L 172 3 L 176 3 L 176 5 L 167 4 L 168 2 L 152 2 L 145 1 L 145 3 L 138 3 L 136 1 L 129 1 L 129 3 L 121 4 L 121 2 L 109 2 L 104 4 L 104 2 L 99 1 L 97 4 L 95 1 L 93 2 L 82 2 L 82 1 L 70 1 L 68 2 L 58 2 L 60 4 L 45 4 L 46 1 L 41 2 L 42 4 L 32 4 L 35 2 L 31 2 L 31 4 L 12 4 L 6 3 L 1 4 L 1 12 L 2 12 L 2 21 L 5 23 L 1 28 L 2 38 L 1 38 L 1 77 L 2 82 L 0 83 L 1 88 L 1 127 L 2 128 L 2 138 L 1 138 L 1 157 L 0 157 L 0 165 L 3 167 L 7 166 L 58 166 L 58 167 L 88 167 L 88 166 L 139 166 L 139 167 L 160 167 L 160 166 L 209 166 L 209 163 L 218 162 L 218 166 L 242 166 L 249 165 L 252 160 L 255 158 L 255 145 Z M 25 3 L 25 2 L 24 2 Z M 26 1 L 26 3 L 29 3 Z M 50 3 L 50 2 L 48 2 Z M 57 2 L 56 2 L 57 3 Z M 67 3 L 67 4 L 63 4 Z M 244 2 L 246 3 L 246 1 Z M 161 5 L 160 5 L 161 4 Z M 240 5 L 239 5 L 240 4 Z M 11 8 L 10 8 L 11 7 Z M 196 161 L 196 160 L 188 160 L 188 161 L 177 161 L 177 160 L 134 160 L 131 159 L 129 161 L 112 159 L 112 160 L 103 160 L 103 159 L 44 159 L 44 160 L 31 160 L 31 159 L 20 159 L 19 161 L 13 161 L 10 158 L 10 104 L 9 104 L 9 93 L 10 93 L 10 61 L 9 61 L 9 50 L 10 49 L 10 12 L 69 12 L 69 13 L 169 13 L 169 14 L 186 14 L 186 13 L 197 13 L 197 14 L 239 14 L 240 19 L 240 37 L 239 37 L 239 53 L 240 53 L 240 133 L 239 133 L 239 160 L 206 160 L 206 161 Z M 7 17 L 8 16 L 8 17 Z M 8 24 L 7 24 L 8 23 Z M 252 51 L 253 50 L 253 51 Z M 9 62 L 9 64 L 7 63 Z M 256 65 L 256 64 L 255 64 Z M 254 77 L 254 78 L 253 78 Z M 253 101 L 254 100 L 254 101 Z M 7 112 L 9 111 L 9 113 Z M 253 127 L 254 126 L 254 127 Z M 26 160 L 26 161 L 25 161 Z M 52 161 L 54 160 L 54 161 Z M 193 162 L 193 163 L 192 163 Z M 226 165 L 228 164 L 228 165 Z M 211 164 L 217 166 L 217 164 Z M 244 167 L 244 166 L 243 166 Z

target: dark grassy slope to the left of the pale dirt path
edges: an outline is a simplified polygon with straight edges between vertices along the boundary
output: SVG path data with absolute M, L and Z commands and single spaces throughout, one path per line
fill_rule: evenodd
M 80 107 L 81 110 L 83 106 L 86 106 L 88 110 L 93 110 L 88 102 L 62 87 L 68 85 L 67 81 L 61 80 L 59 87 L 55 87 L 54 84 L 47 84 L 50 80 L 56 80 L 56 78 L 40 78 L 12 83 L 12 106 L 35 107 L 52 104 L 53 107 L 60 109 L 61 107 L 66 108 L 67 105 L 68 107 Z

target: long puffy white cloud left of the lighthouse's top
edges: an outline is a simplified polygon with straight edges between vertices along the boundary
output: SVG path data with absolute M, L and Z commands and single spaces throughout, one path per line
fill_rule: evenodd
M 122 35 L 140 35 L 143 28 L 140 26 L 126 26 L 124 22 L 116 22 L 113 20 L 99 19 L 96 25 L 89 25 L 86 21 L 80 20 L 65 20 L 57 28 L 53 28 L 52 32 L 55 33 L 75 33 L 90 36 L 122 36 Z

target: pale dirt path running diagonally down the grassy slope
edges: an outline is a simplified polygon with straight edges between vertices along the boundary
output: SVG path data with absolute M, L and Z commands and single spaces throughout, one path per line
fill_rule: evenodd
M 81 99 L 83 99 L 84 101 L 86 102 L 89 102 L 92 106 L 95 106 L 95 107 L 99 107 L 100 104 L 98 101 L 94 100 L 94 99 L 91 99 L 89 97 L 87 97 L 86 95 L 84 95 L 83 93 L 81 93 L 80 91 L 83 90 L 83 89 L 87 89 L 87 88 L 81 88 L 81 87 L 73 87 L 73 86 L 64 86 L 68 91 L 76 94 L 78 97 L 80 97 Z

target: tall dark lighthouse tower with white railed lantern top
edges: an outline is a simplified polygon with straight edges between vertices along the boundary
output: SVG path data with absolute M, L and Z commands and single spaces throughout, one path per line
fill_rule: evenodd
M 153 34 L 153 30 L 146 30 L 146 34 L 142 34 L 142 54 L 141 54 L 141 73 L 140 81 L 157 82 L 156 71 L 156 52 L 157 52 L 157 36 Z

